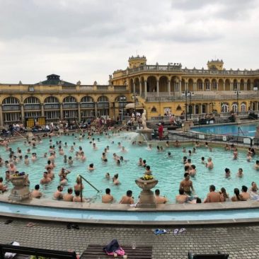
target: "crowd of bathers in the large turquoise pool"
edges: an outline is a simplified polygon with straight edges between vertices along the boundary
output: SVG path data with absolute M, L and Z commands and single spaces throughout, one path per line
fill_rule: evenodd
M 114 132 L 110 132 L 111 134 L 115 134 Z M 49 139 L 50 148 L 48 152 L 45 152 L 43 154 L 43 158 L 47 160 L 47 164 L 45 166 L 45 170 L 42 173 L 42 178 L 40 180 L 40 183 L 36 184 L 34 189 L 31 191 L 31 197 L 32 198 L 40 198 L 42 197 L 42 192 L 40 191 L 40 185 L 47 185 L 52 182 L 52 180 L 55 177 L 54 171 L 57 171 L 56 165 L 54 163 L 55 159 L 57 159 L 57 153 L 59 156 L 62 156 L 64 159 L 64 165 L 72 166 L 74 163 L 74 159 L 78 161 L 86 161 L 86 155 L 84 153 L 84 150 L 81 146 L 76 147 L 76 141 L 83 142 L 85 139 L 88 139 L 89 144 L 91 144 L 92 149 L 94 151 L 98 150 L 96 142 L 100 141 L 100 138 L 98 137 L 99 134 L 105 134 L 105 137 L 110 138 L 109 132 L 81 132 L 79 136 L 76 136 L 72 133 L 74 136 L 74 142 L 69 147 L 67 142 L 62 142 L 61 140 L 56 141 L 53 143 L 52 137 L 54 137 L 56 134 L 51 132 L 51 134 L 44 134 L 40 137 L 38 135 L 37 137 L 33 137 L 32 139 L 26 139 L 24 141 L 24 145 L 27 146 L 27 150 L 23 152 L 20 147 L 17 148 L 16 151 L 13 151 L 13 149 L 10 146 L 10 141 L 8 139 L 1 140 L 0 144 L 5 147 L 6 152 L 8 153 L 8 160 L 3 161 L 3 159 L 0 158 L 0 166 L 5 166 L 7 168 L 6 170 L 6 177 L 5 180 L 8 182 L 10 180 L 11 175 L 17 175 L 21 174 L 23 172 L 19 172 L 16 168 L 19 163 L 23 162 L 27 166 L 30 164 L 30 160 L 35 162 L 38 160 L 37 153 L 35 152 L 36 146 L 38 144 L 42 143 L 43 138 Z M 66 133 L 69 134 L 69 133 Z M 97 135 L 97 137 L 96 137 Z M 59 136 L 59 134 L 58 134 Z M 114 141 L 112 142 L 114 144 Z M 142 142 L 132 142 L 132 145 L 139 144 L 139 146 L 142 145 Z M 173 143 L 166 142 L 165 148 L 160 145 L 156 145 L 156 151 L 157 152 L 163 152 L 166 148 L 169 148 L 171 146 L 174 146 L 175 148 L 181 148 L 181 144 L 176 141 Z M 205 147 L 208 149 L 209 152 L 212 152 L 212 146 L 209 146 L 207 142 L 205 144 L 201 144 L 199 142 L 195 142 L 194 146 L 190 150 L 186 150 L 185 147 L 182 148 L 183 154 L 183 168 L 184 168 L 184 175 L 183 180 L 180 182 L 179 186 L 179 194 L 175 197 L 176 203 L 201 203 L 202 200 L 200 197 L 197 197 L 195 194 L 195 189 L 192 184 L 191 178 L 194 177 L 197 173 L 196 166 L 192 164 L 192 154 L 195 154 L 197 150 L 201 147 Z M 125 146 L 122 146 L 121 142 L 117 143 L 117 147 L 120 149 L 121 153 L 126 154 L 127 150 L 125 149 Z M 100 159 L 103 161 L 103 163 L 108 163 L 107 153 L 109 151 L 109 146 L 106 146 L 105 149 L 101 152 Z M 64 150 L 69 150 L 71 153 L 71 156 L 67 156 Z M 148 150 L 152 149 L 152 144 L 148 144 L 147 146 Z M 226 151 L 231 151 L 233 153 L 233 159 L 238 159 L 238 149 L 236 146 L 228 145 L 224 147 Z M 56 151 L 57 150 L 57 151 Z M 25 153 L 25 154 L 24 154 Z M 72 156 L 72 154 L 75 153 L 75 157 Z M 30 156 L 30 157 L 29 157 Z M 168 152 L 168 157 L 171 157 L 171 152 Z M 247 161 L 250 162 L 253 157 L 255 156 L 255 149 L 249 148 L 247 151 Z M 127 162 L 127 159 L 125 159 L 123 156 L 118 156 L 117 154 L 113 154 L 113 160 L 117 165 L 120 165 L 122 162 Z M 208 170 L 212 170 L 214 168 L 214 163 L 212 161 L 212 157 L 209 156 L 207 160 L 205 160 L 205 157 L 201 157 L 200 163 L 204 164 L 208 168 Z M 152 171 L 149 165 L 146 164 L 146 160 L 139 158 L 139 161 L 137 162 L 136 166 L 141 166 L 144 168 L 144 175 L 152 175 Z M 255 170 L 259 170 L 259 161 L 255 162 L 254 165 Z M 88 171 L 94 171 L 95 166 L 93 163 L 90 163 L 88 165 Z M 73 187 L 67 188 L 67 193 L 64 193 L 64 186 L 67 186 L 69 184 L 68 178 L 69 173 L 71 173 L 71 170 L 68 168 L 62 167 L 58 169 L 57 177 L 59 178 L 59 185 L 57 186 L 57 190 L 53 194 L 54 200 L 63 200 L 66 202 L 85 202 L 88 199 L 85 199 L 82 197 L 82 192 L 84 190 L 84 184 L 81 182 L 80 177 L 76 177 L 75 184 Z M 238 177 L 243 177 L 243 169 L 238 168 L 238 172 L 236 173 Z M 229 178 L 231 176 L 231 171 L 229 168 L 225 168 L 225 177 Z M 105 173 L 105 178 L 107 180 L 110 180 L 110 178 L 113 180 L 113 185 L 120 185 L 119 180 L 119 174 L 115 173 L 113 177 L 110 175 L 110 173 Z M 27 184 L 30 184 L 30 180 L 27 177 Z M 4 179 L 0 177 L 0 191 L 6 192 L 8 190 L 7 185 L 4 184 Z M 154 197 L 156 200 L 156 203 L 166 203 L 168 202 L 168 199 L 166 197 L 163 197 L 160 195 L 160 190 L 156 189 L 154 193 Z M 226 189 L 224 187 L 220 188 L 219 191 L 216 191 L 216 187 L 214 185 L 209 186 L 209 193 L 205 200 L 203 202 L 227 202 L 227 201 L 246 201 L 246 200 L 259 200 L 259 193 L 256 183 L 252 183 L 251 187 L 248 188 L 246 185 L 243 185 L 241 187 L 241 190 L 238 188 L 234 188 L 234 195 L 233 197 L 230 197 L 230 195 L 226 192 Z M 102 202 L 103 203 L 113 203 L 115 202 L 115 199 L 113 195 L 111 195 L 110 188 L 105 189 L 105 194 L 102 196 Z M 120 199 L 121 204 L 134 204 L 135 202 L 138 202 L 137 200 L 134 200 L 134 197 L 132 196 L 132 190 L 127 190 L 125 195 L 122 196 Z

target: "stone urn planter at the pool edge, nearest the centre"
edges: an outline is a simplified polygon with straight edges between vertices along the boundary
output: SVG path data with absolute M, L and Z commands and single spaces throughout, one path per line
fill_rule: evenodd
M 154 188 L 159 181 L 156 179 L 142 180 L 139 178 L 135 180 L 135 183 L 137 183 L 139 188 L 142 188 L 139 197 L 139 207 L 156 207 L 154 192 L 152 192 L 151 189 Z

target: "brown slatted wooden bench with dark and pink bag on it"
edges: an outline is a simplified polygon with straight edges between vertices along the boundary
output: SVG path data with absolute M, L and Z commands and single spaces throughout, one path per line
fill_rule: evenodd
M 113 255 L 106 255 L 103 251 L 103 247 L 100 245 L 89 245 L 84 251 L 81 259 L 103 259 L 103 258 L 114 258 Z M 152 258 L 152 246 L 136 246 L 136 249 L 132 249 L 131 246 L 122 246 L 122 249 L 127 254 L 129 259 L 151 259 Z M 120 256 L 119 258 L 122 258 Z

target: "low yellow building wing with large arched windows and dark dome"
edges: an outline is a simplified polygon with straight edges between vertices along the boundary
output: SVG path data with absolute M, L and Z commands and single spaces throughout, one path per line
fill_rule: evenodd
M 115 117 L 126 105 L 127 86 L 71 84 L 58 75 L 38 84 L 0 84 L 0 126 L 45 117 L 47 122 Z

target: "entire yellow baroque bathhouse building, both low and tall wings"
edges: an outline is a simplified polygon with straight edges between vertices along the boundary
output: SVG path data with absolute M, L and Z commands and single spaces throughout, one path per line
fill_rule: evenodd
M 0 126 L 31 117 L 47 122 L 96 116 L 122 120 L 132 113 L 129 106 L 145 108 L 148 120 L 169 112 L 197 116 L 259 110 L 259 70 L 226 70 L 221 60 L 207 62 L 207 69 L 148 65 L 144 56 L 128 62 L 127 69 L 110 75 L 108 85 L 72 84 L 56 74 L 37 84 L 0 84 Z

